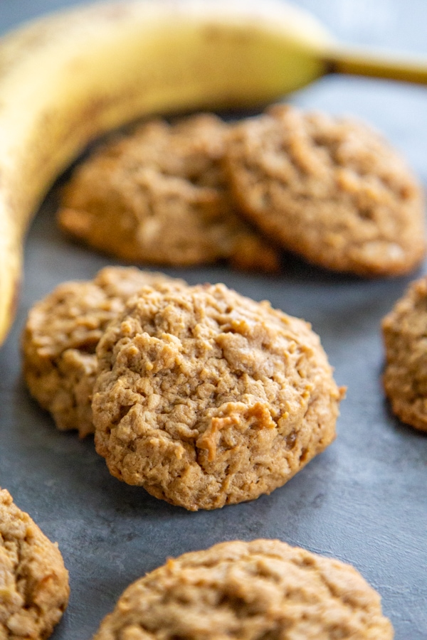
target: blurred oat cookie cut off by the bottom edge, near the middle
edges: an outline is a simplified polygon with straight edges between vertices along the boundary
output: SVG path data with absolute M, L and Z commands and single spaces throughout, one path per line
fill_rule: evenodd
M 351 565 L 279 540 L 185 553 L 134 582 L 93 640 L 391 640 Z

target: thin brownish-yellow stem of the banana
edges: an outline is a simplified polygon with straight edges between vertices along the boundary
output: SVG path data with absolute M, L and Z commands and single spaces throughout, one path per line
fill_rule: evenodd
M 426 56 L 408 56 L 357 48 L 337 48 L 325 55 L 327 73 L 365 75 L 427 84 Z

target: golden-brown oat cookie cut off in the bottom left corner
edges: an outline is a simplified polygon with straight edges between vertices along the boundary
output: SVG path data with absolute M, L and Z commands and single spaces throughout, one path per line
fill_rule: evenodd
M 58 545 L 0 489 L 0 639 L 47 638 L 69 593 Z

